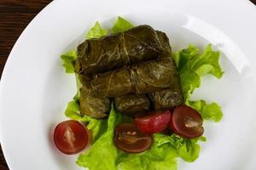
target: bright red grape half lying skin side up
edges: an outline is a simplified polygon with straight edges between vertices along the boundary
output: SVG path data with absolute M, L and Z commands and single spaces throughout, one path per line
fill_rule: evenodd
M 137 127 L 143 133 L 159 133 L 168 127 L 171 119 L 171 111 L 153 111 L 146 116 L 138 116 L 135 119 Z

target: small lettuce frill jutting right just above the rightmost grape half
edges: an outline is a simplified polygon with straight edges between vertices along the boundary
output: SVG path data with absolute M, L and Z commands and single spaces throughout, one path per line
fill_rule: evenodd
M 205 120 L 219 122 L 223 117 L 220 106 L 215 102 L 207 105 L 204 100 L 188 101 L 187 105 L 198 111 Z

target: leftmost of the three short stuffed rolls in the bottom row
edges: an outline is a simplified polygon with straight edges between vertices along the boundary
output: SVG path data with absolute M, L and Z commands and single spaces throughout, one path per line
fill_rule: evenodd
M 103 118 L 108 116 L 110 100 L 108 98 L 96 96 L 95 93 L 88 88 L 90 77 L 79 77 L 79 80 L 83 84 L 83 87 L 80 88 L 79 97 L 81 115 L 87 115 L 94 118 Z

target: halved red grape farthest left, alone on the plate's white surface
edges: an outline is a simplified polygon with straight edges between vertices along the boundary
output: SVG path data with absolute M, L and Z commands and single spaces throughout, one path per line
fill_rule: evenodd
M 89 133 L 85 128 L 81 123 L 73 120 L 59 123 L 54 133 L 56 147 L 67 155 L 84 150 L 89 143 Z

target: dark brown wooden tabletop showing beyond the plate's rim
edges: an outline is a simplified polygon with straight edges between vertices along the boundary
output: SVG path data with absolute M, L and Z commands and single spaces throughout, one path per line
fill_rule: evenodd
M 256 4 L 256 0 L 251 0 Z M 0 1 L 0 77 L 15 41 L 28 23 L 51 0 L 1 0 Z M 255 9 L 256 10 L 256 9 Z M 253 16 L 255 17 L 255 16 Z M 9 170 L 0 146 L 0 170 Z

